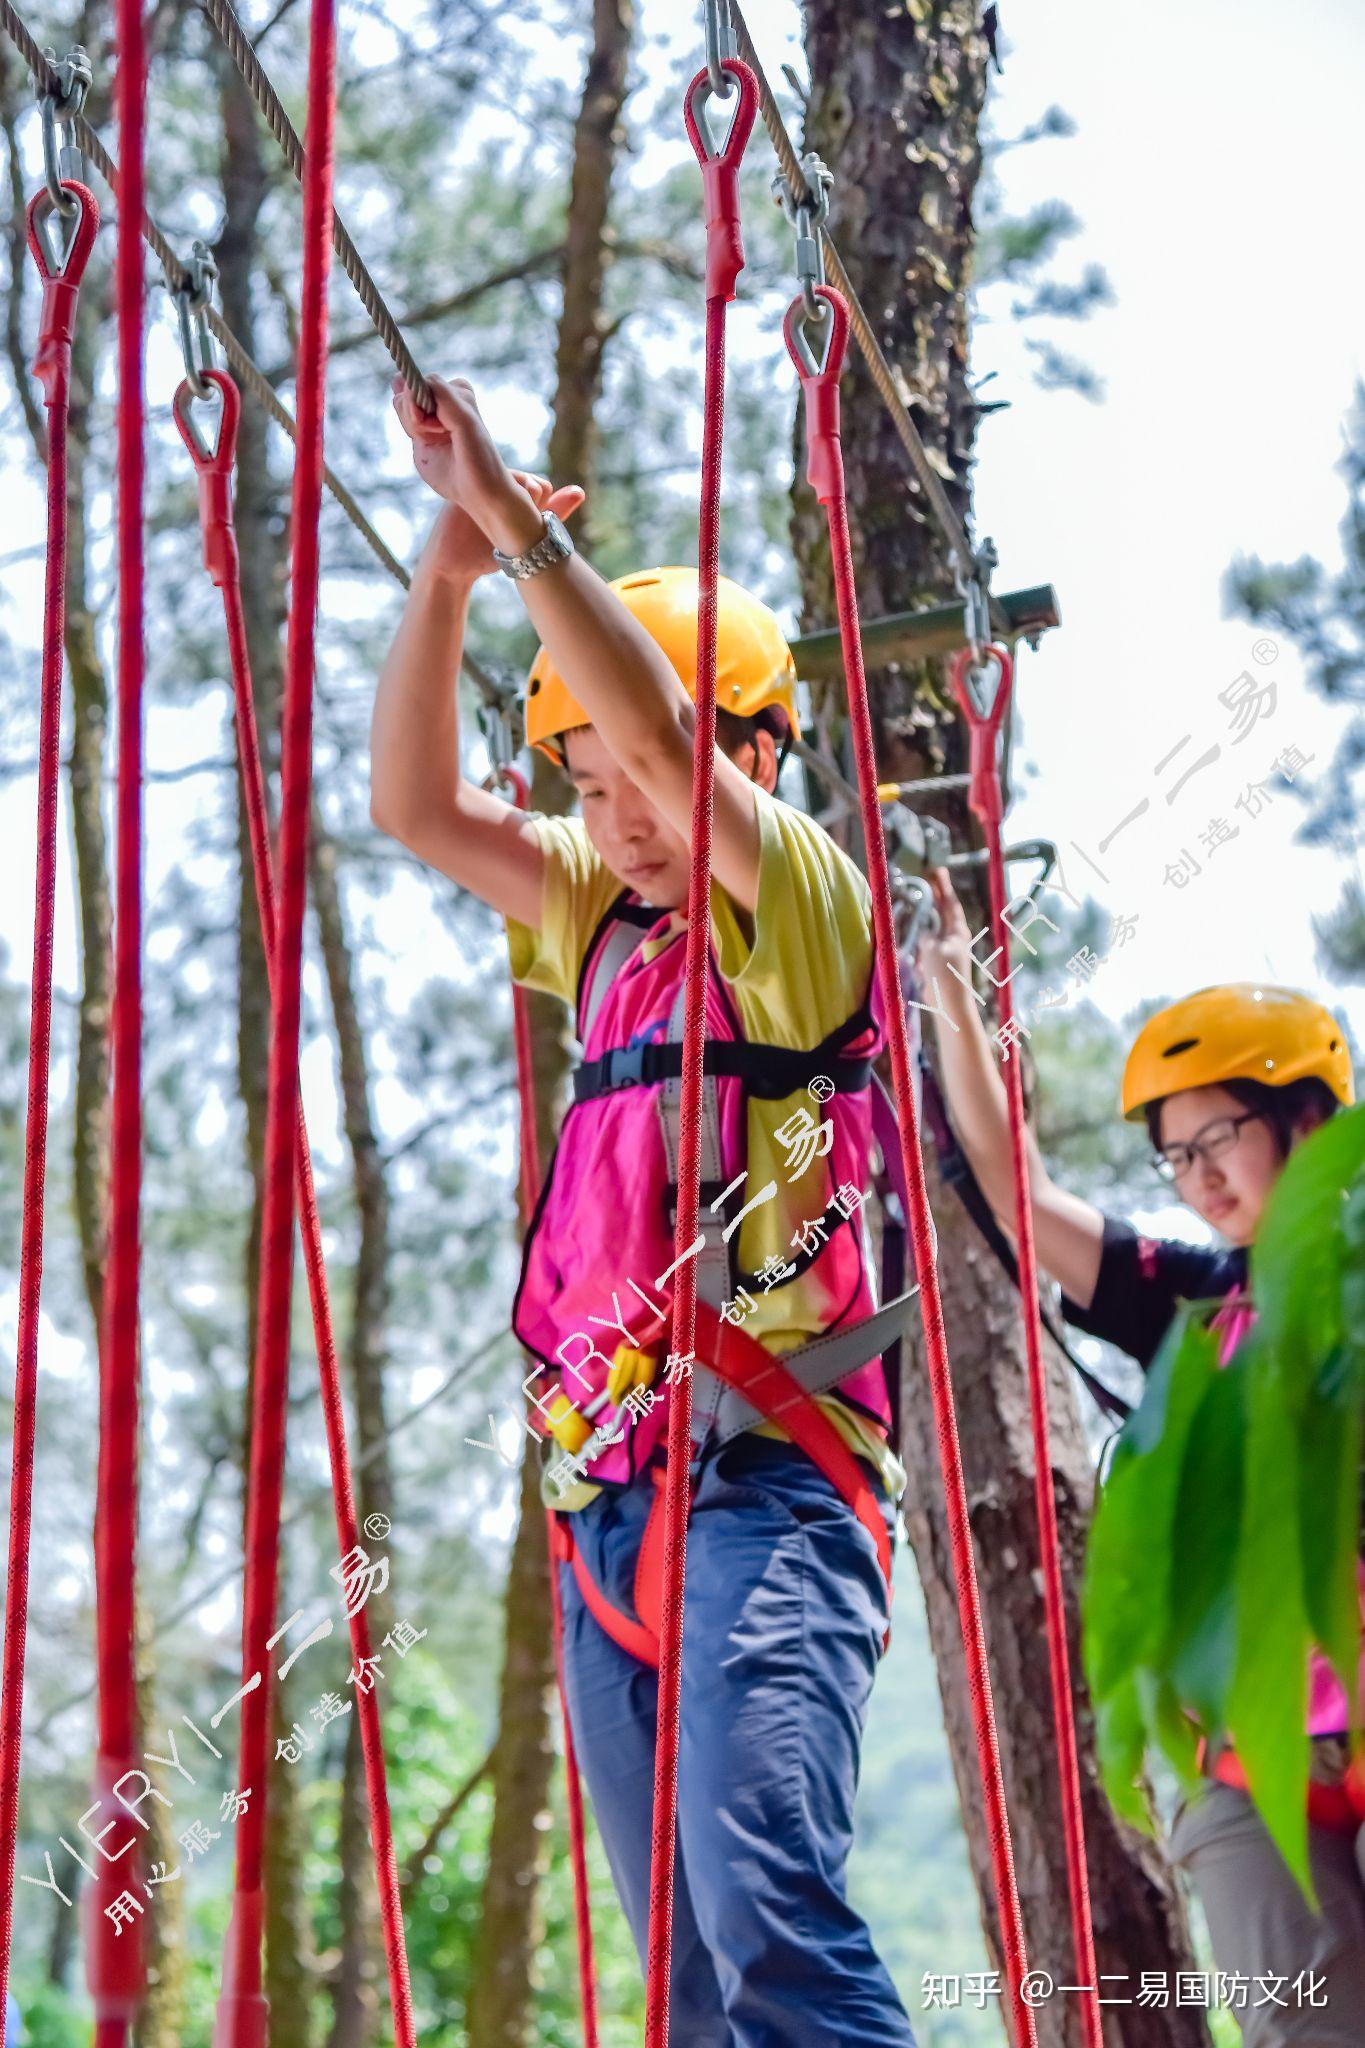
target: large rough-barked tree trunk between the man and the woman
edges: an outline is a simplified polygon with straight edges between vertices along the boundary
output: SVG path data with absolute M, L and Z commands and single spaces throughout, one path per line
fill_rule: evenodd
M 966 287 L 972 193 L 980 170 L 978 117 L 986 88 L 986 47 L 976 6 L 966 0 L 911 0 L 896 8 L 886 8 L 882 0 L 806 0 L 806 55 L 812 92 L 804 143 L 819 150 L 837 176 L 833 236 L 902 389 L 913 393 L 915 422 L 945 477 L 948 496 L 958 516 L 966 518 L 976 426 L 968 387 Z M 853 348 L 843 379 L 843 451 L 864 612 L 872 616 L 952 596 L 943 537 L 929 522 L 923 496 L 909 487 L 909 459 Z M 825 522 L 804 483 L 796 494 L 792 526 L 804 623 L 829 625 L 835 610 Z M 884 776 L 960 772 L 966 766 L 939 664 L 886 666 L 870 676 L 870 688 Z M 837 737 L 841 719 L 831 696 L 825 692 L 817 702 Z M 960 846 L 978 844 L 958 793 L 945 793 L 931 809 L 952 825 Z M 974 930 L 980 928 L 980 899 L 968 901 L 968 918 Z M 1017 1296 L 962 1208 L 937 1186 L 933 1161 L 929 1165 L 1029 1962 L 1058 1985 L 1074 1985 Z M 1099 1790 L 1076 1634 L 1076 1577 L 1093 1477 L 1066 1368 L 1052 1348 L 1048 1395 L 1095 1944 L 1099 1970 L 1126 1972 L 1136 1993 L 1142 1970 L 1189 1968 L 1189 1942 L 1179 1894 L 1158 1853 L 1115 1821 Z M 982 1925 L 999 1964 L 937 1438 L 919 1356 L 905 1372 L 902 1415 L 911 1473 L 907 1522 L 925 1589 Z M 1195 2009 L 1132 2005 L 1109 2007 L 1105 2017 L 1107 2040 L 1121 2038 L 1128 2048 L 1207 2040 Z M 1048 2048 L 1078 2042 L 1078 2001 L 1058 1995 L 1040 2007 L 1038 2038 Z

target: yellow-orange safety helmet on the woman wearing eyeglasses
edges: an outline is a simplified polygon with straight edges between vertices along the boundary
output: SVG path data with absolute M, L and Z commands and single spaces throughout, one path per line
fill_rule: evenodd
M 1340 1104 L 1355 1102 L 1351 1055 L 1332 1012 L 1297 989 L 1228 981 L 1146 1020 L 1124 1067 L 1124 1116 L 1136 1122 L 1150 1102 L 1181 1087 L 1283 1087 L 1310 1075 Z

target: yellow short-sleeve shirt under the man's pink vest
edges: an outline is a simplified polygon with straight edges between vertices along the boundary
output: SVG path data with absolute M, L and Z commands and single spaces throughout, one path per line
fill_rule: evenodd
M 753 920 L 712 879 L 710 926 L 716 965 L 745 1036 L 763 1044 L 808 1051 L 860 1006 L 872 975 L 872 895 L 860 868 L 804 811 L 753 786 L 759 821 L 759 887 Z M 622 883 L 604 864 L 581 817 L 532 813 L 544 852 L 540 930 L 508 918 L 512 977 L 573 1006 L 587 944 Z M 681 911 L 673 913 L 681 924 Z M 792 1233 L 825 1208 L 821 1161 L 788 1180 L 792 1153 L 778 1130 L 794 1108 L 808 1106 L 800 1090 L 780 1102 L 749 1100 L 749 1176 L 778 1184 L 778 1198 L 753 1208 L 739 1227 L 739 1266 L 757 1274 L 769 1255 L 788 1253 Z M 745 1331 L 769 1352 L 790 1352 L 825 1327 L 804 1276 L 755 1296 Z M 905 1491 L 905 1468 L 876 1430 L 843 1401 L 819 1405 L 849 1448 L 880 1473 L 892 1499 Z M 755 1425 L 784 1438 L 776 1423 Z M 598 1489 L 581 1487 L 583 1499 Z M 581 1505 L 573 1493 L 551 1505 Z

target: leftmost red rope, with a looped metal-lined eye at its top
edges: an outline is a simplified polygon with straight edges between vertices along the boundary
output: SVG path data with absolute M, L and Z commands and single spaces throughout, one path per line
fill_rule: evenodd
M 43 584 L 43 668 L 39 680 L 37 866 L 33 877 L 33 993 L 29 997 L 29 1110 L 25 1118 L 25 1217 L 18 1251 L 18 1346 L 14 1436 L 10 1444 L 10 1550 L 0 1677 L 0 2013 L 10 1980 L 14 1929 L 14 1839 L 23 1745 L 25 1647 L 29 1634 L 29 1550 L 33 1536 L 33 1442 L 39 1393 L 39 1307 L 43 1294 L 43 1198 L 47 1188 L 47 1083 L 51 1063 L 51 954 L 57 897 L 57 786 L 61 778 L 61 647 L 65 639 L 65 436 L 72 401 L 76 297 L 94 248 L 100 209 L 84 184 L 63 180 L 76 203 L 65 258 L 53 266 L 47 240 L 55 205 L 47 186 L 29 203 L 29 248 L 43 279 L 33 375 L 47 406 L 47 573 Z M 59 231 L 59 229 L 57 229 Z

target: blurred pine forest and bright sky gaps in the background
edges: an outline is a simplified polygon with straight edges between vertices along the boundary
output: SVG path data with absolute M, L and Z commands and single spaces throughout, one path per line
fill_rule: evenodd
M 278 0 L 244 16 L 299 125 L 305 14 L 301 0 Z M 57 53 L 74 41 L 90 51 L 88 113 L 113 141 L 106 12 L 49 8 L 31 25 Z M 225 317 L 293 403 L 297 184 L 201 10 L 188 0 L 158 0 L 151 31 L 151 213 L 182 254 L 194 236 L 209 242 Z M 806 139 L 835 170 L 835 236 L 847 229 L 880 279 L 878 332 L 917 393 L 921 432 L 966 512 L 976 426 L 997 401 L 970 379 L 974 319 L 1025 324 L 1040 381 L 1068 385 L 1078 406 L 1103 397 L 1074 330 L 1103 303 L 1107 281 L 1101 270 L 1076 274 L 1068 264 L 1074 215 L 1064 197 L 1013 217 L 999 180 L 1005 152 L 1064 139 L 1068 115 L 1040 106 L 1025 131 L 995 129 L 988 39 L 966 4 L 886 8 L 880 0 L 849 0 L 837 8 L 812 0 L 804 37 L 810 88 L 778 76 L 774 84 L 788 125 L 800 135 L 804 123 Z M 501 0 L 497 8 L 483 0 L 407 0 L 399 8 L 348 0 L 342 8 L 338 211 L 420 360 L 475 381 L 487 418 L 518 461 L 548 465 L 559 481 L 587 483 L 579 545 L 591 549 L 606 575 L 696 559 L 702 215 L 679 104 L 698 61 L 700 29 L 659 0 L 639 8 L 632 0 Z M 35 537 L 4 559 L 0 772 L 25 782 L 37 739 L 43 420 L 29 373 L 37 291 L 20 221 L 39 156 L 29 80 L 8 45 L 0 45 L 0 133 L 10 197 L 2 236 L 8 360 L 0 449 L 6 492 L 31 504 Z M 792 244 L 769 203 L 772 170 L 757 131 L 743 180 L 743 317 L 737 313 L 731 330 L 722 567 L 794 625 L 814 629 L 833 623 L 833 608 L 808 496 L 792 492 L 796 391 L 778 338 L 792 293 Z M 935 193 L 950 203 L 939 207 Z M 113 219 L 113 195 L 100 193 L 100 203 Z M 849 246 L 845 260 L 855 268 Z M 104 1255 L 113 778 L 111 262 L 113 236 L 104 233 L 84 287 L 78 340 L 63 856 L 74 848 L 80 967 L 55 1020 L 18 1841 L 18 1872 L 43 1880 L 49 1851 L 74 1905 L 63 1907 L 49 1888 L 16 1886 L 12 1987 L 37 2048 L 74 2048 L 88 2038 L 78 1944 L 82 1872 L 59 1837 L 76 1839 L 76 1819 L 90 1804 L 92 1761 L 92 1331 Z M 139 1610 L 147 1743 L 156 1747 L 153 1733 L 182 1714 L 207 1726 L 239 1683 L 244 1430 L 268 1004 L 241 858 L 221 610 L 201 569 L 192 475 L 170 418 L 178 352 L 160 289 L 151 291 L 151 324 Z M 340 272 L 332 336 L 327 459 L 360 494 L 393 553 L 411 563 L 434 500 L 393 430 L 389 365 Z M 886 438 L 878 399 L 853 371 L 845 440 L 868 614 L 952 594 L 939 537 L 907 496 L 905 459 Z M 1349 715 L 1336 811 L 1308 821 L 1322 834 L 1355 817 L 1355 778 L 1365 762 L 1359 410 L 1353 449 L 1345 571 L 1328 575 L 1308 561 L 1238 563 L 1230 571 L 1234 602 L 1293 637 L 1314 686 Z M 266 735 L 280 676 L 289 479 L 289 442 L 248 397 L 237 522 Z M 305 1100 L 354 1417 L 352 1452 L 362 1460 L 360 1511 L 387 1513 L 393 1524 L 385 1626 L 407 1622 L 420 1632 L 407 1655 L 387 1665 L 381 1688 L 420 2038 L 428 2048 L 526 2038 L 569 2048 L 581 2036 L 563 1774 L 551 1769 L 559 1729 L 546 1708 L 542 1565 L 534 1546 L 514 1546 L 518 1526 L 526 1526 L 518 1507 L 534 1503 L 534 1456 L 524 1456 L 516 1421 L 524 1366 L 505 1333 L 518 1270 L 505 946 L 491 913 L 422 872 L 368 821 L 368 713 L 399 606 L 395 580 L 327 504 Z M 524 676 L 534 643 L 510 590 L 481 586 L 473 651 L 501 682 Z M 937 668 L 892 662 L 874 674 L 874 688 L 890 772 L 962 766 Z M 817 735 L 839 758 L 829 688 L 814 686 L 812 715 Z M 473 692 L 463 694 L 463 725 L 467 768 L 481 774 L 487 754 Z M 784 793 L 792 801 L 810 797 L 794 764 Z M 544 766 L 536 801 L 565 803 L 563 788 L 546 788 Z M 962 827 L 960 811 L 948 807 L 943 815 Z M 10 870 L 27 872 L 23 860 Z M 1105 944 L 1095 905 L 1074 911 L 1056 897 L 1048 907 L 1062 932 L 1021 969 L 1029 989 L 1056 983 L 1081 944 Z M 1320 940 L 1334 971 L 1365 977 L 1357 883 L 1347 883 L 1340 905 L 1324 918 Z M 1164 993 L 1152 991 L 1152 1001 Z M 544 1137 L 563 1079 L 565 1026 L 563 1018 L 538 1014 L 536 1028 Z M 23 958 L 4 963 L 0 1034 L 0 1145 L 8 1159 L 0 1178 L 0 1300 L 12 1333 L 25 1128 Z M 1040 1137 L 1058 1176 L 1107 1208 L 1158 1206 L 1142 1147 L 1111 1110 L 1124 1034 L 1076 989 L 1066 1008 L 1038 1018 L 1031 1051 Z M 1062 1075 L 1064 1087 L 1056 1085 Z M 974 1284 L 1009 1303 L 999 1276 Z M 280 1612 L 299 1606 L 315 1616 L 332 1602 L 336 1528 L 299 1282 L 295 1311 Z M 970 1350 L 968 1337 L 964 1343 Z M 1099 1360 L 1095 1346 L 1085 1352 L 1126 1384 L 1121 1360 Z M 966 1370 L 970 1386 L 970 1356 Z M 980 1370 L 1017 1372 L 1017 1352 Z M 1064 1382 L 1062 1393 L 1068 1409 Z M 1089 1475 L 1103 1427 L 1085 1397 L 1076 1403 L 1060 1423 L 1070 1432 L 1062 1456 L 1074 1456 L 1076 1470 L 1085 1464 Z M 988 1415 L 982 1427 L 988 1434 Z M 964 1444 L 968 1475 L 980 1481 L 970 1432 Z M 1011 1473 L 1019 1497 L 1031 1497 L 1023 1454 Z M 1074 1499 L 1064 1501 L 1076 1528 L 1087 1483 L 1076 1481 Z M 921 1571 L 931 1569 L 931 1485 L 919 1460 L 911 1520 Z M 536 1520 L 532 1511 L 530 1524 Z M 1015 1579 L 1031 1599 L 1027 1569 L 1019 1567 Z M 999 1597 L 1007 1597 L 1003 1587 Z M 980 1868 L 972 1835 L 964 1833 L 954 1769 L 960 1673 L 950 1669 L 943 1630 L 941 1599 L 929 1599 L 927 1616 L 915 1561 L 902 1550 L 894 1642 L 868 1733 L 851 1886 L 917 2015 L 923 1972 L 966 1976 L 988 1966 L 974 1882 Z M 526 1653 L 520 1663 L 514 1647 Z M 270 1782 L 270 1995 L 280 2048 L 372 2048 L 391 2038 L 356 1716 L 325 1726 L 309 1718 L 323 1692 L 348 1698 L 346 1669 L 346 1642 L 336 1630 L 280 1688 L 280 1729 L 301 1722 L 313 1735 L 307 1755 L 297 1765 L 280 1761 Z M 1019 1737 L 1021 1747 L 1027 1741 Z M 174 1829 L 203 1821 L 221 1835 L 186 1882 L 158 1898 L 156 1995 L 139 2023 L 141 2048 L 205 2048 L 211 2038 L 231 1884 L 231 1823 L 221 1817 L 231 1755 L 223 1763 L 203 1755 L 209 1769 L 196 1774 L 192 1792 L 184 1788 L 184 1800 L 176 1796 Z M 1044 1784 L 1040 1810 L 1048 1796 Z M 596 1839 L 591 1876 L 602 2040 L 604 2048 L 624 2048 L 641 2034 L 639 1968 Z M 1038 1870 L 1025 1868 L 1027 1878 L 1038 1880 Z M 1054 1901 L 1054 1913 L 1064 1939 L 1064 1905 Z M 1203 2038 L 1197 2015 L 1179 2015 L 1183 2034 L 1177 2015 L 1166 2017 L 1169 2034 L 1142 2038 Z M 917 2028 L 937 2048 L 1003 2040 L 990 2003 L 923 2013 Z

